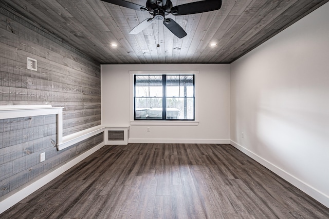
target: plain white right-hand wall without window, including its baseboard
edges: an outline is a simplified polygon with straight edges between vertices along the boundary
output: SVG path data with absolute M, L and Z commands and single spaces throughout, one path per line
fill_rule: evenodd
M 328 21 L 329 3 L 232 63 L 230 85 L 232 145 L 329 207 Z

